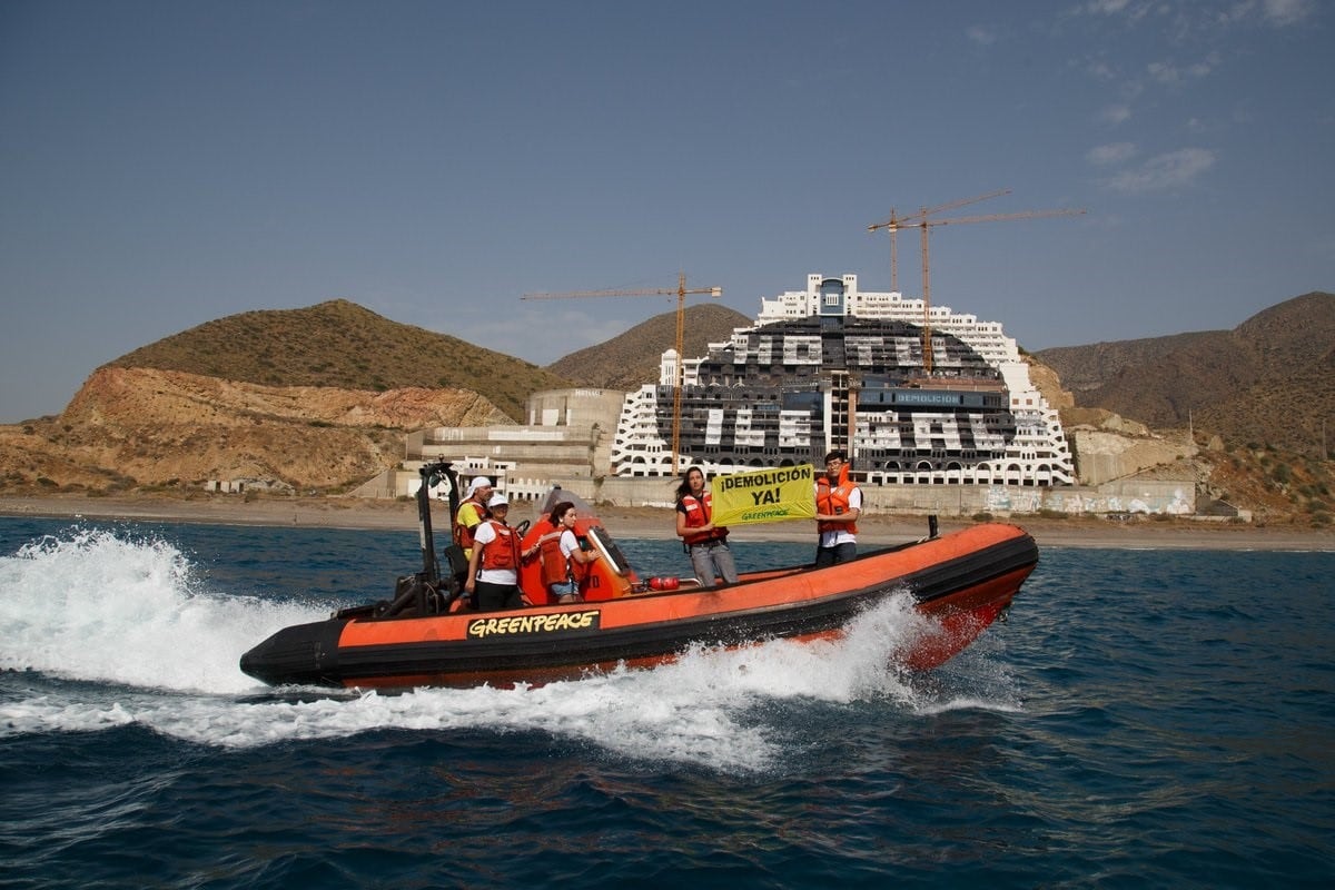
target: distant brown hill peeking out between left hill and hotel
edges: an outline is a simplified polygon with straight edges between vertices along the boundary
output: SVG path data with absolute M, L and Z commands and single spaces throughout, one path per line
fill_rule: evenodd
M 752 319 L 726 306 L 688 306 L 682 350 L 688 356 L 705 355 L 710 343 L 728 340 L 733 328 L 752 324 Z M 655 315 L 605 343 L 571 352 L 549 364 L 547 371 L 581 386 L 638 390 L 645 383 L 658 382 L 661 356 L 669 348 L 677 348 L 676 311 Z

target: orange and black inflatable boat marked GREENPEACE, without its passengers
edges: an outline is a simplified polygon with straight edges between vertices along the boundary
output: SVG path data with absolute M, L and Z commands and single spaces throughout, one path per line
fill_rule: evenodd
M 450 568 L 442 572 L 431 535 L 427 492 L 447 479 L 453 511 L 454 472 L 439 463 L 423 467 L 422 476 L 423 571 L 400 578 L 392 600 L 278 631 L 242 656 L 246 674 L 271 685 L 347 687 L 542 683 L 659 664 L 692 644 L 834 638 L 857 612 L 896 592 L 913 596 L 933 619 L 932 630 L 898 654 L 905 667 L 925 670 L 973 642 L 1039 559 L 1021 528 L 981 524 L 860 552 L 841 566 L 745 572 L 738 583 L 710 590 L 694 578 L 641 579 L 587 504 L 557 490 L 549 500 L 575 503 L 577 538 L 602 556 L 579 582 L 583 602 L 547 602 L 538 592 L 541 566 L 529 564 L 521 586 L 533 606 L 477 612 L 461 607 L 461 554 L 447 547 Z M 525 526 L 525 547 L 551 531 L 545 523 Z

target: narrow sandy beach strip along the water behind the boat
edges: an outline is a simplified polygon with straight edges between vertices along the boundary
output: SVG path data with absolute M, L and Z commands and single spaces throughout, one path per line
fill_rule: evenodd
M 439 504 L 433 511 L 437 535 L 447 527 Z M 530 515 L 522 506 L 517 519 Z M 607 528 L 618 538 L 674 540 L 673 511 L 668 507 L 599 507 Z M 366 500 L 354 498 L 259 498 L 246 502 L 236 495 L 202 495 L 191 499 L 162 495 L 88 498 L 85 495 L 0 496 L 0 516 L 43 519 L 120 519 L 132 522 L 207 523 L 223 526 L 288 526 L 308 528 L 403 530 L 418 527 L 414 500 Z M 1099 518 L 1049 519 L 1044 516 L 997 518 L 1023 527 L 1040 547 L 1091 547 L 1112 550 L 1270 550 L 1335 552 L 1335 531 L 1288 527 L 1254 527 L 1234 523 L 1137 519 L 1109 522 Z M 943 516 L 943 534 L 972 524 Z M 926 535 L 925 515 L 869 515 L 858 520 L 858 542 L 886 546 Z M 736 542 L 814 542 L 809 522 L 738 526 Z

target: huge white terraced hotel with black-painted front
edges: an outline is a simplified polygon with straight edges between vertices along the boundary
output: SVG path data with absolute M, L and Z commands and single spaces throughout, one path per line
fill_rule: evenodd
M 674 467 L 677 363 L 666 351 L 658 383 L 626 395 L 614 475 L 818 463 L 838 448 L 869 484 L 1075 483 L 1057 411 L 1000 323 L 944 306 L 924 319 L 922 300 L 864 294 L 856 275 L 761 299 L 753 327 L 682 363 Z

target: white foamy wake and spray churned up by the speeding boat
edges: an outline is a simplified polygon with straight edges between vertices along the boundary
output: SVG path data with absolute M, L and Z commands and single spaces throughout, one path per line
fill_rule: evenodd
M 1005 690 L 992 701 L 965 683 L 968 691 L 939 701 L 901 677 L 893 654 L 926 627 L 906 594 L 860 615 L 837 642 L 701 646 L 655 670 L 537 689 L 294 698 L 268 694 L 236 659 L 279 627 L 326 612 L 198 587 L 172 546 L 104 531 L 45 539 L 0 560 L 0 666 L 96 683 L 0 705 L 0 735 L 135 723 L 200 745 L 256 747 L 383 729 L 537 731 L 635 759 L 762 770 L 780 759 L 789 729 L 770 717 L 776 702 L 888 701 L 905 714 L 1011 706 Z

